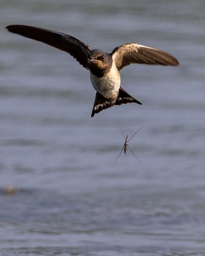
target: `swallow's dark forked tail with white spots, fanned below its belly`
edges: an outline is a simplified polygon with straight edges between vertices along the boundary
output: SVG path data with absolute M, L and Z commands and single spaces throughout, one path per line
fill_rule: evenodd
M 136 98 L 132 97 L 132 95 L 127 93 L 127 91 L 121 87 L 119 88 L 119 94 L 115 103 L 110 103 L 107 98 L 103 97 L 100 93 L 96 93 L 91 117 L 94 117 L 94 114 L 97 114 L 102 110 L 106 110 L 114 105 L 122 105 L 127 103 L 137 103 L 142 105 L 141 102 L 136 100 Z

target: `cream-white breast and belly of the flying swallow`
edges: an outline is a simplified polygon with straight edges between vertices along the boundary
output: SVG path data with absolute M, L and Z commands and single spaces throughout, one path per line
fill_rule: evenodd
M 90 80 L 94 89 L 105 98 L 115 98 L 121 82 L 119 71 L 114 62 L 110 72 L 104 74 L 103 77 L 99 78 L 90 72 Z

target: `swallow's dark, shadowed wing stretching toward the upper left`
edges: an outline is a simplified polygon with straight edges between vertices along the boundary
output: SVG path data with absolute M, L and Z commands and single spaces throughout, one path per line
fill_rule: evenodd
M 88 57 L 91 51 L 90 46 L 81 42 L 73 36 L 56 32 L 49 29 L 36 28 L 25 25 L 6 26 L 12 33 L 16 33 L 31 39 L 46 43 L 47 45 L 56 47 L 73 56 L 83 67 L 88 69 Z

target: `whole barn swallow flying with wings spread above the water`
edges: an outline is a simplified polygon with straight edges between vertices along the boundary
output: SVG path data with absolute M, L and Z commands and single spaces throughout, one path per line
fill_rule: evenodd
M 75 37 L 53 30 L 25 25 L 10 25 L 6 29 L 67 52 L 90 71 L 91 83 L 97 91 L 91 117 L 113 105 L 142 104 L 121 87 L 119 71 L 123 67 L 131 63 L 179 65 L 171 54 L 137 43 L 125 43 L 107 53 L 100 49 L 91 50 L 90 46 Z

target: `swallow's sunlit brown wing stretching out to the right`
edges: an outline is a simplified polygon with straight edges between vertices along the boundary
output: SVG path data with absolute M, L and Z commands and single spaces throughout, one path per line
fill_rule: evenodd
M 179 65 L 178 60 L 171 54 L 156 48 L 138 45 L 137 43 L 126 43 L 125 45 L 118 46 L 112 51 L 111 56 L 118 70 L 131 63 L 166 66 Z

